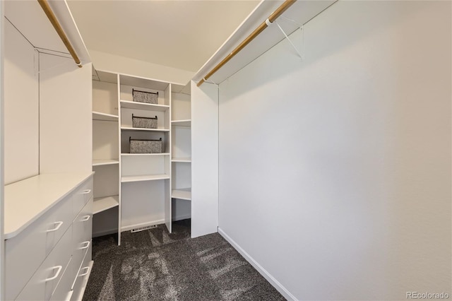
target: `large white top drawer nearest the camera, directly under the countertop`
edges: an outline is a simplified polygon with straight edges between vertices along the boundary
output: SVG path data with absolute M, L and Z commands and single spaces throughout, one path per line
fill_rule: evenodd
M 72 223 L 71 194 L 6 240 L 6 300 L 13 300 Z M 70 254 L 70 253 L 69 253 Z

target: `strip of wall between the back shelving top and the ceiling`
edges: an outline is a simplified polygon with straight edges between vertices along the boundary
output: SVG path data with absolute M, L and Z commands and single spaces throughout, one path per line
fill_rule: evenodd
M 113 73 L 155 78 L 159 81 L 167 81 L 179 85 L 186 85 L 194 76 L 194 72 L 192 71 L 153 64 L 147 61 L 139 61 L 137 59 L 130 59 L 129 57 L 120 57 L 106 52 L 90 50 L 90 57 L 93 59 L 93 64 L 97 70 Z

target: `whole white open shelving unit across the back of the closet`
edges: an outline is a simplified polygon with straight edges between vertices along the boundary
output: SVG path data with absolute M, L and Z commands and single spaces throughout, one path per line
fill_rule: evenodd
M 179 93 L 181 87 L 94 70 L 93 235 L 118 232 L 120 244 L 121 231 L 166 223 L 171 232 L 172 218 L 184 207 L 176 204 L 173 210 L 172 194 L 185 201 L 181 217 L 190 218 L 190 96 Z M 158 93 L 157 103 L 134 102 L 133 90 Z M 157 117 L 157 128 L 133 127 L 132 115 Z M 162 153 L 131 153 L 130 139 L 162 139 Z

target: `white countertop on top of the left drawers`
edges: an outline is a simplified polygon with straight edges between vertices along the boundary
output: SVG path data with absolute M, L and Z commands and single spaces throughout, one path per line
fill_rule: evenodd
M 15 237 L 93 172 L 37 175 L 5 186 L 4 239 Z

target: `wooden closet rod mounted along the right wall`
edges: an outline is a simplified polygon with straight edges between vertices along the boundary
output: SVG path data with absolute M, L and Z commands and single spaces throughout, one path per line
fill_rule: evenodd
M 198 87 L 202 85 L 204 82 L 206 82 L 206 80 L 210 78 L 210 76 L 212 76 L 213 73 L 217 72 L 222 66 L 224 66 L 228 61 L 230 61 L 230 59 L 232 59 L 237 53 L 239 53 L 240 50 L 244 49 L 244 47 L 248 45 L 249 42 L 254 40 L 254 38 L 257 37 L 260 33 L 262 33 L 264 29 L 268 28 L 268 25 L 270 25 L 270 23 L 273 23 L 274 20 L 281 16 L 287 10 L 287 8 L 292 6 L 292 4 L 294 4 L 296 1 L 297 0 L 286 0 L 284 1 L 283 4 L 281 4 L 280 7 L 276 8 L 276 10 L 265 21 L 263 21 L 261 25 L 258 26 L 258 28 L 256 28 L 248 37 L 246 37 L 245 40 L 243 40 L 239 44 L 239 46 L 235 47 L 235 49 L 232 50 L 232 52 L 228 54 L 227 57 L 220 61 L 220 63 L 217 66 L 215 66 L 214 69 L 212 69 L 209 73 L 207 73 L 206 76 L 204 76 L 203 79 L 201 79 L 201 81 L 199 81 L 199 83 L 197 84 Z

